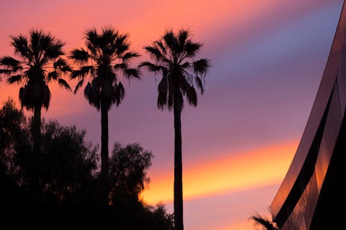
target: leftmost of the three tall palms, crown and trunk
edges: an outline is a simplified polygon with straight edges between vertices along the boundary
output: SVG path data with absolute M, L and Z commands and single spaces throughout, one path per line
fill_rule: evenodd
M 54 81 L 71 90 L 62 78 L 71 68 L 62 58 L 64 43 L 42 30 L 30 30 L 29 36 L 11 37 L 17 59 L 10 56 L 0 58 L 0 74 L 6 75 L 9 84 L 20 84 L 19 101 L 21 107 L 33 111 L 33 189 L 39 196 L 39 163 L 41 152 L 41 109 L 48 110 L 51 91 L 48 83 Z M 35 191 L 36 189 L 36 191 Z M 34 202 L 37 202 L 35 200 Z

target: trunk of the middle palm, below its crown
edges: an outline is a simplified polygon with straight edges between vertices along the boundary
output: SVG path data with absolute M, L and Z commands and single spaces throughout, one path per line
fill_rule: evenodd
M 102 200 L 108 204 L 109 156 L 108 156 L 108 108 L 101 102 L 101 182 Z

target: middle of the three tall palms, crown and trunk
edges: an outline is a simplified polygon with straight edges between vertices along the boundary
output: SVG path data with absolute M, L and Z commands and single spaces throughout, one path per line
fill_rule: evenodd
M 125 95 L 125 88 L 118 73 L 127 79 L 139 78 L 136 68 L 129 68 L 129 62 L 139 57 L 137 52 L 129 50 L 129 35 L 120 34 L 113 28 L 104 28 L 98 32 L 95 28 L 86 31 L 86 49 L 74 49 L 71 59 L 80 65 L 71 78 L 78 78 L 75 92 L 82 86 L 86 76 L 88 83 L 84 96 L 91 106 L 101 110 L 101 180 L 102 199 L 107 202 L 109 193 L 109 150 L 108 150 L 108 111 L 113 104 L 119 106 Z

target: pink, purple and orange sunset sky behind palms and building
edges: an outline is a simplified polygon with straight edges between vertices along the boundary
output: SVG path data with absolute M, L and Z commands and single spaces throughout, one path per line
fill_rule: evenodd
M 184 226 L 187 230 L 251 230 L 248 218 L 268 207 L 282 182 L 309 117 L 343 6 L 341 0 L 4 0 L 0 56 L 13 55 L 10 35 L 51 32 L 71 51 L 89 28 L 112 26 L 130 35 L 131 49 L 165 30 L 187 28 L 203 43 L 211 68 L 197 108 L 183 109 Z M 143 71 L 125 82 L 122 104 L 109 112 L 109 146 L 138 142 L 152 151 L 149 204 L 172 212 L 173 114 L 156 108 L 160 75 Z M 77 82 L 70 81 L 74 88 Z M 80 90 L 51 85 L 44 119 L 75 124 L 100 144 L 100 113 Z M 0 102 L 18 102 L 18 86 L 0 82 Z M 31 115 L 31 113 L 27 113 Z

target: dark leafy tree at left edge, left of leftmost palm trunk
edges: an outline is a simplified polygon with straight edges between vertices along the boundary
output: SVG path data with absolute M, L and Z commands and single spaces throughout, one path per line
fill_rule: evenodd
M 17 110 L 13 100 L 8 99 L 0 110 L 0 208 L 1 213 L 8 215 L 19 213 L 20 210 L 12 212 L 13 207 L 20 209 L 28 202 L 24 191 L 26 178 L 17 164 L 19 151 L 30 153 L 27 134 L 23 111 Z

